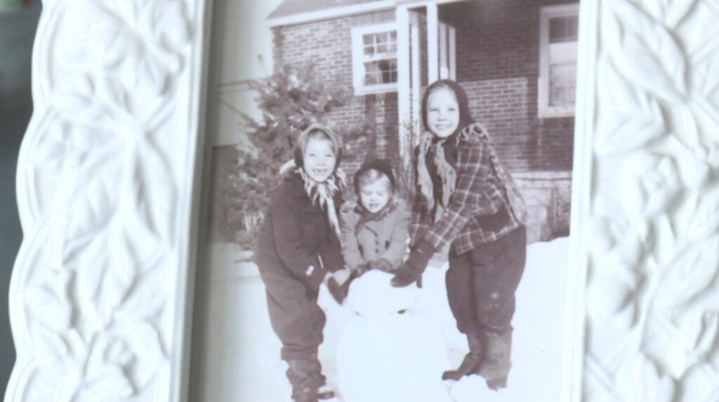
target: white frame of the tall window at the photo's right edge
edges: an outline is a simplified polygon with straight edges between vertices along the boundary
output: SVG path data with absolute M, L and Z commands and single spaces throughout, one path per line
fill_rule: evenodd
M 579 3 L 559 4 L 541 7 L 539 12 L 539 78 L 537 80 L 537 114 L 539 118 L 573 117 L 576 99 L 572 106 L 549 106 L 549 21 L 557 17 L 579 17 Z M 579 42 L 579 27 L 577 27 L 577 42 Z M 572 43 L 572 42 L 567 42 Z M 575 62 L 577 60 L 575 55 Z M 576 83 L 574 86 L 576 91 Z

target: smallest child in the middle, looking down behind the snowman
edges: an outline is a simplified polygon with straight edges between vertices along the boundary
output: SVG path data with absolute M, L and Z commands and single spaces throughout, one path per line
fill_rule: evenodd
M 410 213 L 406 203 L 394 197 L 395 175 L 386 159 L 365 161 L 354 174 L 357 203 L 342 207 L 342 256 L 350 270 L 340 285 L 330 278 L 327 288 L 342 303 L 349 283 L 367 270 L 393 272 L 402 265 L 407 247 Z M 345 275 L 347 276 L 347 275 Z M 339 277 L 339 275 L 338 275 Z

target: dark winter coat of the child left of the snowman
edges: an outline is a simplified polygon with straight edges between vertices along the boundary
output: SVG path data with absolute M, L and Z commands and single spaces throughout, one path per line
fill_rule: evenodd
M 334 196 L 334 205 L 342 205 L 341 192 Z M 344 268 L 342 247 L 326 211 L 312 202 L 296 173 L 274 191 L 256 251 L 260 270 L 301 280 L 313 291 L 328 270 Z

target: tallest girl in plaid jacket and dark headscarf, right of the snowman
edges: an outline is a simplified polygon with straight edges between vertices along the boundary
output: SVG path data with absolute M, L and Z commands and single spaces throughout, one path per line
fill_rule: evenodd
M 449 249 L 446 290 L 470 352 L 442 378 L 482 375 L 497 390 L 510 369 L 514 293 L 524 270 L 526 209 L 487 136 L 470 116 L 467 94 L 441 80 L 422 99 L 426 132 L 417 149 L 418 191 L 410 225 L 412 250 L 392 280 L 421 278 L 434 252 Z

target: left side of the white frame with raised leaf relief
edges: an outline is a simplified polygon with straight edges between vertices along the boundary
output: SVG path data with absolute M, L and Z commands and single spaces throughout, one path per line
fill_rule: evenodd
M 182 393 L 205 7 L 44 1 L 19 157 L 6 401 Z

